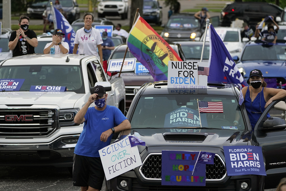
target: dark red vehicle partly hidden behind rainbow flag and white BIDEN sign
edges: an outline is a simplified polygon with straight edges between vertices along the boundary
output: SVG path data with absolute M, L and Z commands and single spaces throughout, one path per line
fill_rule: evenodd
M 170 44 L 170 46 L 171 46 L 171 48 L 174 49 L 175 52 L 177 52 L 177 54 L 180 56 L 180 58 L 183 61 L 186 60 L 185 55 L 183 53 L 183 50 L 179 44 Z M 123 59 L 124 55 L 125 55 L 126 48 L 127 48 L 126 44 L 118 45 L 113 50 L 113 52 L 111 53 L 111 55 L 108 59 L 108 63 L 112 59 Z M 135 58 L 135 56 L 133 56 L 133 54 L 131 52 L 127 52 L 125 58 Z M 138 60 L 136 60 L 136 62 L 138 62 Z M 115 76 L 117 76 L 117 75 L 115 75 Z M 152 77 L 152 75 L 149 72 L 136 74 L 135 71 L 122 72 L 121 76 L 122 76 L 124 83 L 125 83 L 126 109 L 128 109 L 132 100 L 133 100 L 133 97 L 135 95 L 134 90 L 135 91 L 138 90 L 142 86 L 142 84 L 144 84 L 146 82 L 154 81 L 154 78 Z

